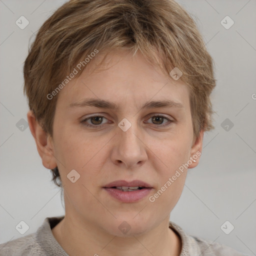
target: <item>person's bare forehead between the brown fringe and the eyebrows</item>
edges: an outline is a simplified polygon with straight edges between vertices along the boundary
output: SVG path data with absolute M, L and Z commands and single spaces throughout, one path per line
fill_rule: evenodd
M 68 107 L 95 98 L 112 101 L 121 108 L 125 104 L 142 106 L 149 100 L 171 100 L 189 107 L 188 87 L 166 76 L 139 51 L 112 51 L 98 67 L 103 56 L 98 53 L 79 76 L 68 82 L 58 95 L 58 103 Z

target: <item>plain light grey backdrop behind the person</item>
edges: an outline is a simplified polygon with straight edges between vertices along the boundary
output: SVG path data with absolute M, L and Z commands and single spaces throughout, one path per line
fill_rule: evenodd
M 29 42 L 63 2 L 0 0 L 0 243 L 22 236 L 15 229 L 21 220 L 29 226 L 26 235 L 45 217 L 64 214 L 60 190 L 50 182 L 29 128 L 20 130 L 28 110 L 22 65 Z M 196 19 L 214 59 L 217 113 L 171 220 L 192 235 L 256 255 L 256 1 L 178 2 Z M 15 24 L 21 15 L 29 21 L 24 29 Z M 229 29 L 220 23 L 226 15 L 234 21 Z M 226 118 L 234 124 L 227 131 L 221 126 Z M 229 234 L 220 229 L 226 220 L 234 226 Z

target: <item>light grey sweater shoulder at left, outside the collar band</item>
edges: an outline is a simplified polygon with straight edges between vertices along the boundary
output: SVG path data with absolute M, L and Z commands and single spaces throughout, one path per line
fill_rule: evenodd
M 0 256 L 25 256 L 39 255 L 45 256 L 45 252 L 36 240 L 36 233 L 28 234 L 0 244 Z

